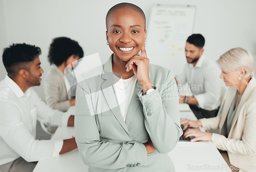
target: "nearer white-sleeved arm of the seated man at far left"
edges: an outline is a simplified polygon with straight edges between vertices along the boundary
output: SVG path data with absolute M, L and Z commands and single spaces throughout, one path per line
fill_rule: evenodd
M 0 115 L 0 136 L 26 161 L 33 162 L 56 157 L 61 149 L 63 149 L 61 153 L 64 153 L 76 148 L 74 141 L 69 143 L 65 141 L 63 145 L 63 140 L 36 140 L 32 135 L 32 129 L 28 128 L 31 124 L 26 124 L 26 122 L 35 122 L 34 114 L 23 114 L 24 112 L 18 106 L 10 102 L 1 102 L 0 107 L 5 112 Z M 68 149 L 67 145 L 69 145 Z

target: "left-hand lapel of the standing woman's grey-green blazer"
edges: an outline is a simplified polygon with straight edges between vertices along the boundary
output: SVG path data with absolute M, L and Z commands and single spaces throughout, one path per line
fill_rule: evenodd
M 101 84 L 101 90 L 106 99 L 106 102 L 110 107 L 110 110 L 112 111 L 112 113 L 114 114 L 114 116 L 116 117 L 120 125 L 123 127 L 123 129 L 127 132 L 127 134 L 130 135 L 129 130 L 123 120 L 123 116 L 121 114 L 118 100 L 115 94 L 115 89 L 113 87 L 115 82 L 114 82 L 113 72 L 112 72 L 112 55 L 109 58 L 109 60 L 106 61 L 106 63 L 104 64 L 101 78 L 105 79 L 105 81 L 103 81 L 103 83 Z

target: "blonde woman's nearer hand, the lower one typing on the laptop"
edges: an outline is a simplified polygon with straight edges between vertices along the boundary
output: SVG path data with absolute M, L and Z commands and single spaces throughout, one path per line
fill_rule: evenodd
M 201 132 L 199 130 L 195 129 L 187 129 L 186 132 L 184 133 L 184 137 L 187 138 L 189 136 L 194 136 L 194 139 L 191 139 L 190 142 L 195 142 L 195 141 L 211 141 L 212 133 L 209 132 Z

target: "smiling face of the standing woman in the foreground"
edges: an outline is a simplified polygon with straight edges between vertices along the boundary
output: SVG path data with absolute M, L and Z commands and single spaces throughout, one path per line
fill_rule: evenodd
M 146 39 L 145 15 L 137 9 L 110 10 L 106 16 L 106 40 L 117 59 L 127 62 L 137 55 Z M 133 13 L 134 15 L 131 15 Z M 116 17 L 113 17 L 116 16 Z M 142 24 L 142 25 L 141 25 Z

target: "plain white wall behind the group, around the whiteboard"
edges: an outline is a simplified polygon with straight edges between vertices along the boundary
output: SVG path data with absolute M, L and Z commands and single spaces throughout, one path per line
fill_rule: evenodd
M 105 14 L 121 1 L 0 0 L 0 54 L 12 43 L 26 42 L 41 48 L 40 60 L 49 69 L 47 54 L 52 38 L 67 36 L 79 42 L 85 55 L 99 53 L 104 62 L 111 51 L 106 46 Z M 141 7 L 149 21 L 153 0 L 128 1 Z M 234 47 L 243 47 L 256 57 L 256 1 L 254 0 L 160 0 L 158 4 L 197 6 L 194 33 L 206 39 L 205 54 L 217 60 Z M 185 42 L 184 42 L 185 43 Z M 159 51 L 159 50 L 156 50 Z M 168 58 L 168 57 L 163 57 Z M 184 57 L 185 58 L 185 57 Z M 182 68 L 182 66 L 181 66 Z M 0 80 L 6 75 L 0 62 Z M 44 74 L 42 81 L 44 81 Z M 44 83 L 34 87 L 44 100 Z

